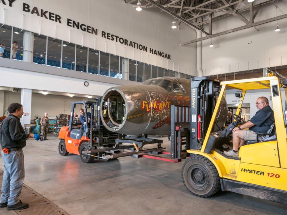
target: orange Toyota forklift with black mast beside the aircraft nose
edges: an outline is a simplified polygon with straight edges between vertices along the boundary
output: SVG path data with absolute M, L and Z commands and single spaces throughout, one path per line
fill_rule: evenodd
M 71 117 L 69 126 L 64 126 L 59 132 L 59 153 L 66 156 L 69 153 L 80 155 L 84 163 L 90 163 L 95 158 L 100 158 L 98 153 L 81 153 L 93 149 L 109 148 L 115 146 L 115 139 L 121 138 L 117 133 L 110 132 L 104 128 L 100 120 L 99 110 L 100 98 L 96 101 L 77 101 L 72 102 Z M 91 113 L 90 123 L 87 123 L 87 129 L 84 130 L 82 125 L 75 124 L 73 121 L 74 112 L 83 108 L 85 110 L 86 122 L 88 122 L 88 112 Z M 92 137 L 92 138 L 91 138 Z

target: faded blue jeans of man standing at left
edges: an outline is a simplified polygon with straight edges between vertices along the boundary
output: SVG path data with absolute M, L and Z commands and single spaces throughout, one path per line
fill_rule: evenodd
M 5 154 L 2 151 L 4 163 L 3 182 L 1 188 L 0 203 L 8 202 L 7 205 L 14 205 L 19 202 L 22 184 L 25 177 L 23 150 L 17 150 Z

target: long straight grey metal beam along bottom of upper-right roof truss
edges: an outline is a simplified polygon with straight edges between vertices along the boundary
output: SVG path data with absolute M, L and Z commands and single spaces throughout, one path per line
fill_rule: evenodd
M 283 14 L 281 16 L 276 16 L 276 17 L 273 17 L 273 18 L 270 18 L 270 19 L 265 19 L 265 20 L 262 20 L 262 21 L 259 21 L 259 22 L 254 22 L 252 24 L 247 24 L 246 26 L 233 28 L 233 29 L 230 29 L 230 30 L 227 30 L 227 31 L 223 31 L 223 32 L 217 33 L 217 34 L 212 34 L 211 36 L 205 36 L 203 38 L 199 38 L 199 39 L 183 42 L 180 45 L 181 46 L 185 46 L 187 44 L 199 42 L 199 41 L 202 41 L 202 40 L 207 40 L 207 39 L 210 39 L 210 38 L 213 38 L 213 37 L 221 36 L 221 35 L 224 35 L 224 34 L 229 34 L 229 33 L 232 33 L 232 32 L 236 32 L 236 31 L 240 31 L 240 30 L 243 30 L 243 29 L 259 26 L 259 25 L 262 25 L 262 24 L 265 24 L 265 23 L 269 23 L 269 22 L 273 22 L 273 21 L 280 20 L 280 19 L 285 19 L 285 18 L 287 18 L 287 14 Z

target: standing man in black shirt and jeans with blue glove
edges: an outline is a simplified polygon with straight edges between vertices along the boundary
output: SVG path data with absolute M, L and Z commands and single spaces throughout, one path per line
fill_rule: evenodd
M 29 138 L 40 139 L 39 134 L 25 134 L 20 123 L 23 115 L 23 106 L 11 103 L 8 107 L 9 116 L 1 124 L 1 147 L 4 163 L 4 173 L 1 188 L 0 208 L 7 210 L 21 210 L 29 207 L 18 199 L 24 181 L 24 154 L 22 148 Z

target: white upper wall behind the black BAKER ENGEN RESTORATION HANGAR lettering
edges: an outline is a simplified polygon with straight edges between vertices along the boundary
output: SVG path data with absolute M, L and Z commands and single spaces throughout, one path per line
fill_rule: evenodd
M 6 1 L 8 3 L 8 1 Z M 35 6 L 40 12 L 44 9 L 61 16 L 62 23 L 51 21 L 43 17 L 24 12 L 23 2 L 30 5 L 30 9 Z M 196 38 L 195 30 L 186 25 L 182 25 L 180 30 L 171 29 L 172 17 L 157 9 L 143 9 L 141 12 L 126 4 L 123 0 L 17 0 L 1 7 L 5 8 L 5 24 L 22 27 L 22 15 L 24 14 L 23 28 L 46 36 L 55 36 L 55 25 L 57 25 L 56 38 L 69 41 L 69 29 L 71 29 L 72 43 L 82 45 L 82 33 L 84 33 L 83 45 L 108 53 L 117 54 L 130 59 L 142 61 L 190 74 L 196 68 L 196 45 L 180 46 L 180 42 Z M 0 10 L 0 22 L 3 22 L 3 10 Z M 86 24 L 98 29 L 98 35 L 90 34 L 67 26 L 67 18 Z M 42 20 L 42 28 L 39 32 L 39 20 Z M 109 32 L 129 41 L 137 42 L 148 46 L 148 52 L 124 46 L 119 42 L 104 39 L 101 32 Z M 96 46 L 94 47 L 94 37 Z M 106 41 L 106 50 L 104 42 Z M 115 53 L 115 45 L 117 52 Z M 124 54 L 124 48 L 125 54 Z M 160 50 L 171 55 L 171 60 L 149 53 L 149 48 Z M 142 57 L 141 57 L 142 53 Z M 149 56 L 149 57 L 148 57 Z

